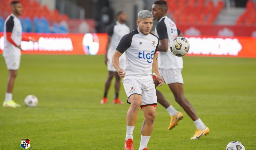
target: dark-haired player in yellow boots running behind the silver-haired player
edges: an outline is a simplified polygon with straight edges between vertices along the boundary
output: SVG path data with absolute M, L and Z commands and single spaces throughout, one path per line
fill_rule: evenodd
M 160 40 L 157 48 L 157 51 L 159 51 L 158 69 L 160 76 L 165 80 L 172 91 L 175 101 L 185 110 L 197 127 L 196 133 L 190 139 L 198 139 L 201 136 L 208 134 L 210 130 L 197 116 L 195 109 L 184 95 L 183 78 L 181 74 L 183 60 L 182 57 L 174 56 L 169 50 L 169 43 L 172 39 L 176 36 L 183 36 L 183 34 L 177 29 L 175 23 L 166 16 L 167 10 L 168 7 L 166 1 L 157 0 L 152 5 L 151 13 L 153 14 L 154 19 L 158 21 L 155 28 L 155 34 Z M 154 79 L 154 84 L 155 86 L 159 84 L 157 79 Z M 183 118 L 183 114 L 180 111 L 175 110 L 160 91 L 156 90 L 156 95 L 157 102 L 165 107 L 171 116 L 170 125 L 168 127 L 168 129 L 171 130 L 177 125 L 179 120 Z

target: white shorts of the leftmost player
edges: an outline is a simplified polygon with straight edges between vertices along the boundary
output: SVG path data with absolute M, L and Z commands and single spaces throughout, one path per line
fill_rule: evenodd
M 4 56 L 5 64 L 8 70 L 18 70 L 20 65 L 20 55 Z

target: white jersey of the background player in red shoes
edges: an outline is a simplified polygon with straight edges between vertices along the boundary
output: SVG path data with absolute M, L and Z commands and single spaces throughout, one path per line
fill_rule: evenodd
M 111 36 L 111 42 L 108 49 L 108 55 L 113 56 L 115 49 L 120 42 L 121 38 L 130 32 L 130 28 L 125 24 L 120 24 L 116 21 L 115 24 L 108 29 L 108 35 Z M 125 55 L 123 56 L 125 58 Z

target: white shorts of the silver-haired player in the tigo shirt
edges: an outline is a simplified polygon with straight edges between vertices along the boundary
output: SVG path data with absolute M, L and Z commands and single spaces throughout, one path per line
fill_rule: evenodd
M 128 97 L 127 103 L 130 104 L 129 97 L 132 94 L 139 94 L 142 96 L 141 107 L 148 105 L 155 106 L 157 105 L 156 99 L 156 89 L 153 80 L 144 80 L 144 79 L 133 79 L 126 78 L 123 79 L 125 93 Z

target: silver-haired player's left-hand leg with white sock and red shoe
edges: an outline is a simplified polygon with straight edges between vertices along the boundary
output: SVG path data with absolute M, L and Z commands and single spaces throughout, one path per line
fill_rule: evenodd
M 133 150 L 133 130 L 137 122 L 138 111 L 142 103 L 140 94 L 132 94 L 129 97 L 131 103 L 130 108 L 126 115 L 126 137 L 125 137 L 125 150 Z

